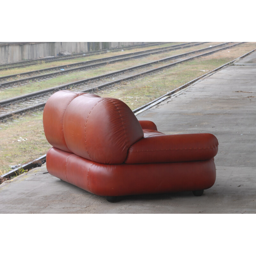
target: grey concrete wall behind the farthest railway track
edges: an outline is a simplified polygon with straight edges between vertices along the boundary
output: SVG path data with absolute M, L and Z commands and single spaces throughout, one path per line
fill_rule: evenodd
M 110 49 L 144 42 L 2 42 L 0 43 L 0 63 L 57 56 L 59 52 L 79 53 Z

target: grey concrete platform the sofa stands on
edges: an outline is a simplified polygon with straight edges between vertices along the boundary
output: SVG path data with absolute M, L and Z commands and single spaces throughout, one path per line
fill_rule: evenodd
M 212 188 L 200 197 L 180 192 L 109 203 L 51 176 L 44 165 L 0 185 L 0 213 L 256 213 L 256 52 L 137 117 L 166 134 L 214 134 Z

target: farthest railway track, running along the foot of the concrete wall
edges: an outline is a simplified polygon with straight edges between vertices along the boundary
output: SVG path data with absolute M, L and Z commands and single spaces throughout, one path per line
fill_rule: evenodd
M 30 65 L 36 65 L 36 64 L 39 64 L 39 63 L 42 63 L 42 62 L 53 62 L 53 61 L 58 61 L 58 60 L 70 60 L 70 59 L 74 59 L 74 58 L 79 58 L 79 57 L 83 58 L 85 56 L 102 54 L 102 53 L 106 53 L 106 52 L 117 52 L 117 51 L 121 51 L 121 50 L 124 50 L 124 49 L 129 50 L 129 49 L 134 49 L 134 48 L 161 45 L 161 44 L 167 44 L 167 43 L 170 43 L 170 42 L 154 42 L 154 43 L 130 45 L 130 46 L 117 47 L 117 48 L 104 49 L 104 50 L 91 51 L 91 52 L 74 53 L 74 54 L 63 55 L 63 56 L 46 57 L 46 58 L 43 58 L 43 59 L 36 59 L 36 60 L 23 60 L 23 61 L 19 61 L 19 62 L 0 64 L 0 71 L 11 69 L 11 68 L 21 68 L 21 67 L 26 67 L 26 66 L 30 66 Z

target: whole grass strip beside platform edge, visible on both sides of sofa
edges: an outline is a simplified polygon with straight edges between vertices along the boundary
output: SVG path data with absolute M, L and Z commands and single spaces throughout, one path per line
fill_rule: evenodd
M 255 48 L 256 43 L 241 44 L 166 69 L 161 74 L 123 83 L 119 90 L 106 90 L 96 94 L 102 97 L 119 98 L 130 108 L 135 109 Z M 0 170 L 2 173 L 7 172 L 10 165 L 23 164 L 46 154 L 51 147 L 44 136 L 42 116 L 42 111 L 38 111 L 9 123 L 0 123 Z

